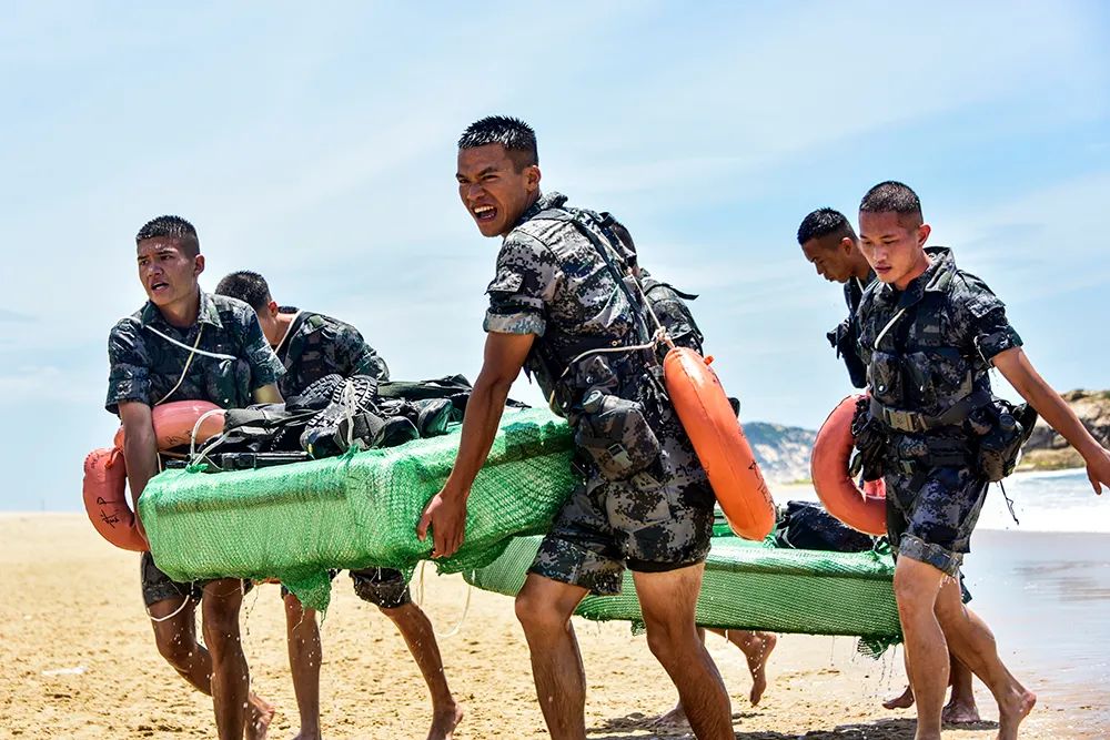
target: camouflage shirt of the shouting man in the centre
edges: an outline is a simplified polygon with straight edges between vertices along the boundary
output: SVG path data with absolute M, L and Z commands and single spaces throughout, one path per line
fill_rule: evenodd
M 536 335 L 525 367 L 537 376 L 545 396 L 551 396 L 555 382 L 582 352 L 646 341 L 643 310 L 629 300 L 635 296 L 629 292 L 634 288 L 617 283 L 597 246 L 565 217 L 567 213 L 585 214 L 586 227 L 595 230 L 596 214 L 568 209 L 565 203 L 565 195 L 549 193 L 525 211 L 505 237 L 496 275 L 486 288 L 486 332 Z M 612 244 L 601 230 L 595 235 Z M 610 374 L 618 377 L 587 381 L 585 376 L 596 363 L 583 362 L 572 368 L 572 385 L 608 384 L 609 392 L 633 397 L 620 392 L 628 375 L 622 368 L 628 363 L 643 364 L 643 358 L 633 353 L 606 358 Z M 582 382 L 573 376 L 583 376 Z

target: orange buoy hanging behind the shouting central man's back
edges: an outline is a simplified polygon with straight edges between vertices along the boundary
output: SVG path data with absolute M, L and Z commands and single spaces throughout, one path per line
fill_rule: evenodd
M 710 362 L 687 347 L 670 349 L 663 359 L 667 393 L 728 526 L 761 540 L 775 528 L 775 503 Z

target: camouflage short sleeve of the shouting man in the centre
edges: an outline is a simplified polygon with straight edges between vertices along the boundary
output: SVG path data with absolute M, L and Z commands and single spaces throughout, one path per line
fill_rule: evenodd
M 523 235 L 509 236 L 497 255 L 497 273 L 486 287 L 490 307 L 483 328 L 498 334 L 543 336 L 555 275 L 555 257 L 542 242 Z

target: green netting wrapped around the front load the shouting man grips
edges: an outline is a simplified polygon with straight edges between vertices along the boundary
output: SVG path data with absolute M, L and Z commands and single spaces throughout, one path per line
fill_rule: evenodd
M 176 580 L 279 578 L 323 609 L 329 568 L 411 569 L 427 558 L 416 539 L 428 499 L 451 472 L 450 434 L 340 458 L 258 470 L 167 470 L 139 501 L 154 561 Z M 466 539 L 443 572 L 484 566 L 514 535 L 548 529 L 571 493 L 573 439 L 549 412 L 506 409 L 472 488 Z

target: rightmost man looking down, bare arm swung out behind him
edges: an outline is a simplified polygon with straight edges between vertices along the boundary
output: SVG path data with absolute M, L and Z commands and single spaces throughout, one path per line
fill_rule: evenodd
M 1006 306 L 956 266 L 951 250 L 926 247 L 930 226 L 917 194 L 882 182 L 859 205 L 860 250 L 878 281 L 859 306 L 871 423 L 886 445 L 887 530 L 898 554 L 895 597 L 917 701 L 917 739 L 940 740 L 949 652 L 998 702 L 1000 740 L 1037 697 L 1002 665 L 987 625 L 956 582 L 989 480 L 1012 469 L 1023 409 L 997 401 L 988 371 L 1010 385 L 1087 463 L 1096 493 L 1110 485 L 1110 453 L 1037 373 Z

